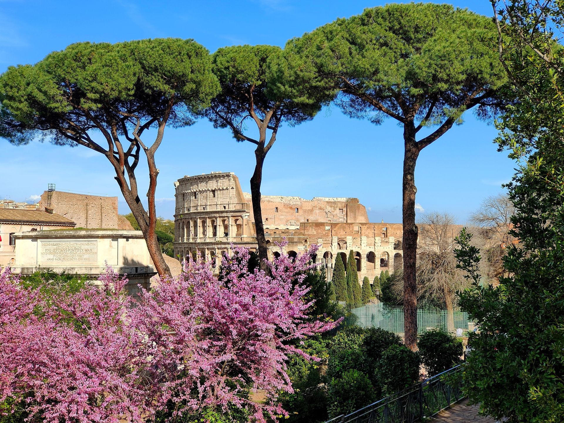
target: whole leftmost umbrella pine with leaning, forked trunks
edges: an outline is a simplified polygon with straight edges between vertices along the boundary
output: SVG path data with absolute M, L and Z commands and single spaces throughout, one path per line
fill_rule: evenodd
M 155 235 L 155 154 L 166 127 L 193 124 L 218 91 L 209 52 L 194 41 L 76 43 L 0 76 L 0 136 L 15 145 L 47 139 L 104 155 L 158 274 L 170 275 Z M 147 209 L 135 174 L 141 152 Z

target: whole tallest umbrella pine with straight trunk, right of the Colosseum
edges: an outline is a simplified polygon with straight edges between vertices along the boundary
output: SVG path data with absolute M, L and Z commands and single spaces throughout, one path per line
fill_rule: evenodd
M 466 9 L 433 3 L 390 4 L 338 19 L 287 43 L 340 90 L 351 117 L 403 129 L 403 275 L 406 345 L 417 341 L 415 165 L 422 149 L 472 108 L 488 117 L 507 77 L 497 58 L 495 25 Z

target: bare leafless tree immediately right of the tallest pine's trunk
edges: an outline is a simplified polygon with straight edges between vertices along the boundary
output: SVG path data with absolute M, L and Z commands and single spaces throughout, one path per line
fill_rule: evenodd
M 447 310 L 447 330 L 455 330 L 454 303 L 456 292 L 468 287 L 460 269 L 456 268 L 455 236 L 458 228 L 448 213 L 428 213 L 417 223 L 417 298 L 443 302 Z M 401 296 L 403 284 L 392 288 Z

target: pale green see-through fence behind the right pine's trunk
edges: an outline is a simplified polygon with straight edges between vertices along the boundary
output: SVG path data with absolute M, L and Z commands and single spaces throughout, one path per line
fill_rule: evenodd
M 453 311 L 455 330 L 462 333 L 472 331 L 474 324 L 468 319 L 468 313 Z M 447 328 L 447 311 L 422 309 L 417 310 L 417 330 L 423 333 L 431 328 Z M 362 307 L 347 307 L 346 325 L 358 325 L 362 328 L 382 328 L 386 331 L 403 333 L 403 307 L 390 307 L 382 303 L 367 304 Z M 458 331 L 460 333 L 460 331 Z

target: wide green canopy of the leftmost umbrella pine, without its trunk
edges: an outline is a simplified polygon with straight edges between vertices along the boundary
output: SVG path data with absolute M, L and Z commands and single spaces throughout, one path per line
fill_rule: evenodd
M 172 100 L 168 124 L 186 126 L 218 89 L 208 51 L 190 39 L 74 43 L 2 74 L 0 136 L 26 144 L 42 133 L 55 144 L 96 149 L 85 131 L 136 124 L 120 113 L 150 121 Z

